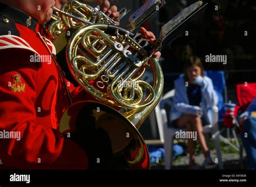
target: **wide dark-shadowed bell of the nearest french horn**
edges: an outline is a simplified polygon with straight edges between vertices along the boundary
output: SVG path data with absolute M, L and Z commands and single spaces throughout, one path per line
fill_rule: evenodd
M 150 169 L 149 152 L 140 133 L 107 105 L 71 105 L 60 121 L 60 132 L 71 133 L 69 138 L 86 150 L 89 169 Z

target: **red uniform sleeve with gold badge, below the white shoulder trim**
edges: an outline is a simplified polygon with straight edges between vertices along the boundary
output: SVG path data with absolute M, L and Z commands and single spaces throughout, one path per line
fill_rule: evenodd
M 82 148 L 64 140 L 58 130 L 36 122 L 38 64 L 29 62 L 30 55 L 22 49 L 0 50 L 0 131 L 21 132 L 20 140 L 0 139 L 0 159 L 11 168 L 86 169 Z M 14 74 L 21 75 L 25 92 L 11 91 Z

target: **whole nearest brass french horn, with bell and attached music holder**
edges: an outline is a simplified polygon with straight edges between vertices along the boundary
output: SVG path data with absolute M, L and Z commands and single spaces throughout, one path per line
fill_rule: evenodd
M 72 76 L 94 101 L 71 105 L 63 115 L 60 132 L 71 130 L 83 136 L 88 132 L 83 116 L 89 113 L 94 124 L 90 129 L 103 130 L 109 136 L 111 156 L 106 162 L 110 168 L 149 169 L 149 152 L 138 129 L 158 104 L 164 88 L 163 71 L 152 55 L 200 19 L 205 10 L 202 4 L 194 3 L 164 25 L 154 46 L 143 35 L 114 25 L 77 26 L 66 45 L 66 60 Z M 152 72 L 152 85 L 142 80 L 147 68 Z M 87 133 L 89 140 L 93 134 Z M 96 145 L 89 147 L 97 149 Z M 92 160 L 96 158 L 94 155 Z

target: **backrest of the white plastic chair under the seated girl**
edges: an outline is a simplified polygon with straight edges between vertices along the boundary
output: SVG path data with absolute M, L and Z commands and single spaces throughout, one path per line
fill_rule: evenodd
M 167 130 L 169 123 L 169 113 L 173 103 L 174 89 L 165 93 L 159 104 L 155 108 L 157 125 L 159 130 L 160 140 L 164 142 L 164 131 Z

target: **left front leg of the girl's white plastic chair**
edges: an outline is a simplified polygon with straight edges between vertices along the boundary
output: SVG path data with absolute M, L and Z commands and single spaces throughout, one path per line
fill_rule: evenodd
M 171 169 L 173 136 L 168 136 L 164 141 L 165 169 Z

